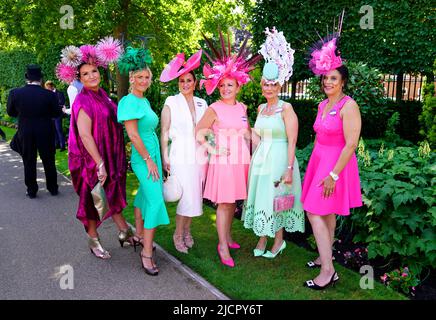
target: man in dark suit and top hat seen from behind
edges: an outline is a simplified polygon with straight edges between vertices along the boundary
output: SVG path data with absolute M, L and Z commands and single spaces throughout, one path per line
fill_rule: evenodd
M 37 152 L 44 165 L 47 190 L 55 196 L 58 194 L 58 184 L 52 118 L 61 116 L 62 110 L 56 95 L 41 87 L 41 67 L 28 65 L 25 77 L 27 84 L 9 93 L 7 112 L 11 117 L 18 117 L 18 135 L 23 152 L 27 196 L 35 198 L 38 192 Z

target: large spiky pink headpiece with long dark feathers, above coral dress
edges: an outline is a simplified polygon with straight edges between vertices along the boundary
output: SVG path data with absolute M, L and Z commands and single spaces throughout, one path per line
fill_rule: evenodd
M 203 67 L 203 76 L 205 79 L 200 81 L 200 88 L 204 85 L 208 95 L 217 87 L 221 79 L 226 77 L 235 79 L 239 85 L 243 85 L 250 81 L 249 72 L 254 69 L 254 65 L 262 59 L 258 53 L 251 55 L 247 48 L 248 37 L 245 38 L 238 53 L 231 52 L 231 44 L 229 36 L 227 36 L 227 44 L 224 37 L 219 31 L 221 48 L 216 49 L 210 39 L 204 34 L 207 46 L 211 49 L 209 55 L 205 52 L 206 57 L 211 62 L 212 66 L 205 64 Z

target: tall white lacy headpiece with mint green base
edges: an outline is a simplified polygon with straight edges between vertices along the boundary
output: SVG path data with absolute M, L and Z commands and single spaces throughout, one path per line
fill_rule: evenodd
M 266 61 L 262 78 L 267 83 L 278 82 L 282 86 L 292 76 L 295 50 L 286 41 L 283 32 L 278 32 L 275 27 L 272 30 L 266 28 L 265 34 L 266 40 L 259 50 Z

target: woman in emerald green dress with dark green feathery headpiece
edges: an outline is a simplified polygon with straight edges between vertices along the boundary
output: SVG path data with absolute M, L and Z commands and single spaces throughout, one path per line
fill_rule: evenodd
M 121 72 L 128 71 L 131 85 L 131 93 L 123 97 L 118 105 L 118 122 L 124 122 L 127 135 L 132 142 L 131 164 L 139 180 L 134 207 L 135 219 L 143 225 L 143 228 L 137 227 L 142 229 L 142 232 L 137 230 L 137 234 L 143 239 L 141 263 L 144 271 L 154 276 L 159 273 L 153 259 L 156 227 L 169 224 L 170 221 L 163 198 L 162 162 L 159 140 L 155 133 L 159 118 L 144 97 L 144 92 L 150 87 L 152 73 L 146 64 L 147 61 L 140 58 L 132 59 L 132 56 L 148 56 L 148 50 L 143 50 L 128 47 L 118 63 Z M 151 58 L 148 63 L 150 62 Z M 139 215 L 136 214 L 138 212 Z

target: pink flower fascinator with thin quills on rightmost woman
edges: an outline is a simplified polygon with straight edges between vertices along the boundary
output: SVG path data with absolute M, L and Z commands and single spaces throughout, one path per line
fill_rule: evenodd
M 344 20 L 344 11 L 339 17 L 337 28 L 333 25 L 333 33 L 328 34 L 325 38 L 317 41 L 310 49 L 309 68 L 316 75 L 326 75 L 331 70 L 342 66 L 343 61 L 339 55 L 339 37 L 342 30 L 342 21 Z M 337 29 L 337 30 L 335 30 Z

